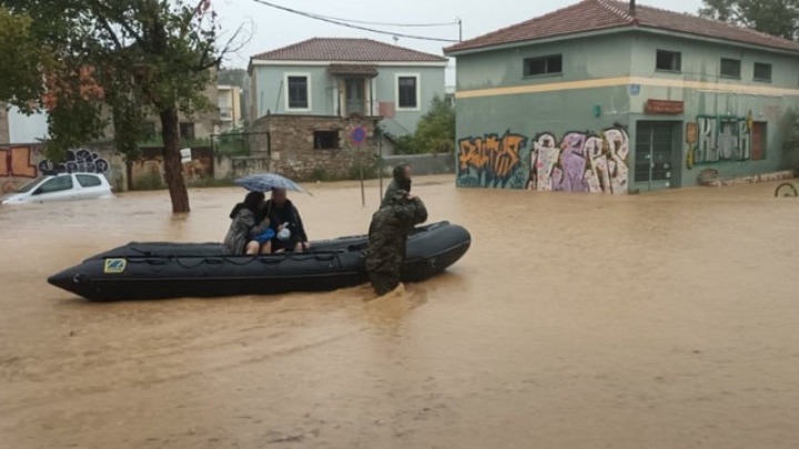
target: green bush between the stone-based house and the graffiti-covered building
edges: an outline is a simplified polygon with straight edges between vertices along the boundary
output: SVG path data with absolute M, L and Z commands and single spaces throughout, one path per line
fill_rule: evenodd
M 422 115 L 416 133 L 397 139 L 396 150 L 402 154 L 447 153 L 455 147 L 455 109 L 436 95 L 431 109 Z

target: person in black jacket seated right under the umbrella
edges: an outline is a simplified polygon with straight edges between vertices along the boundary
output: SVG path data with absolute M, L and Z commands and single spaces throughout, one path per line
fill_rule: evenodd
M 300 211 L 289 200 L 285 190 L 272 190 L 272 197 L 266 202 L 265 210 L 275 233 L 272 238 L 272 251 L 301 253 L 311 247 Z

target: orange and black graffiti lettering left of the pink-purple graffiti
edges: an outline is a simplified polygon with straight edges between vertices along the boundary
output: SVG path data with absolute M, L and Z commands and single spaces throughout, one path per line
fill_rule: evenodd
M 502 137 L 486 134 L 462 139 L 458 175 L 483 180 L 481 184 L 485 186 L 504 187 L 522 163 L 519 153 L 526 145 L 527 137 L 509 131 Z

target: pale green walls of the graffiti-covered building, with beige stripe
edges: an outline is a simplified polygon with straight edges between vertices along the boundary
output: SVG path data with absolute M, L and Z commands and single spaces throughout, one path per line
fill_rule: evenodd
M 657 49 L 681 51 L 682 72 L 656 71 Z M 526 58 L 548 54 L 563 54 L 562 74 L 524 76 Z M 719 78 L 722 57 L 742 60 L 741 80 Z M 752 81 L 756 61 L 773 64 L 771 83 Z M 527 45 L 462 55 L 457 65 L 462 186 L 627 193 L 696 185 L 705 167 L 722 177 L 768 173 L 786 165 L 782 142 L 799 110 L 799 58 L 669 35 L 626 32 Z M 647 113 L 648 100 L 682 101 L 685 112 Z M 751 145 L 750 112 L 768 130 L 763 160 L 690 163 L 689 154 L 706 149 L 686 143 L 687 123 L 716 132 L 712 123 L 734 121 L 744 147 Z M 660 183 L 635 183 L 638 123 L 653 121 L 671 126 L 671 172 Z M 728 137 L 714 134 L 705 146 L 721 139 Z

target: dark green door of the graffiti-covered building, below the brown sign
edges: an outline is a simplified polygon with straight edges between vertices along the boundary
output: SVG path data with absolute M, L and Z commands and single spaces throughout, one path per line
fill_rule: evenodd
M 635 183 L 641 190 L 679 186 L 680 157 L 675 130 L 679 122 L 638 122 L 636 125 Z

